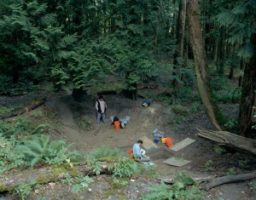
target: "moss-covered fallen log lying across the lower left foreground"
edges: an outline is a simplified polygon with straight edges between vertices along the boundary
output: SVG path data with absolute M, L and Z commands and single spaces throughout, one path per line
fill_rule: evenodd
M 108 174 L 109 163 L 102 163 L 101 174 Z M 19 174 L 9 174 L 0 177 L 0 192 L 13 191 L 20 184 L 27 184 L 30 180 L 35 180 L 38 184 L 49 183 L 65 179 L 65 174 L 77 176 L 79 174 L 93 175 L 93 169 L 84 163 L 74 164 L 73 168 L 70 164 L 61 164 L 44 167 L 41 169 L 26 169 Z

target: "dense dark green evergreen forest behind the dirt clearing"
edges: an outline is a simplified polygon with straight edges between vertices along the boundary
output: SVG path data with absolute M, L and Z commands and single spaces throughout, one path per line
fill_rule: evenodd
M 255 1 L 1 1 L 1 90 L 52 81 L 75 93 L 115 75 L 137 98 L 139 83 L 170 71 L 171 88 L 195 87 L 216 129 L 226 117 L 217 77 L 239 78 L 239 134 L 252 134 Z M 193 59 L 195 61 L 193 61 Z M 215 78 L 211 82 L 212 77 Z M 214 79 L 213 78 L 213 79 Z M 159 81 L 159 80 L 158 80 Z M 218 86 L 216 86 L 218 87 Z M 176 91 L 176 92 L 175 92 Z M 255 121 L 255 120 L 254 120 Z

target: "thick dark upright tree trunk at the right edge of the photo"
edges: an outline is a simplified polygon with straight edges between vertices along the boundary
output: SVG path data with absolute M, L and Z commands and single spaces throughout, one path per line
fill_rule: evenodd
M 256 20 L 254 21 L 256 26 Z M 240 126 L 241 134 L 247 136 L 253 136 L 252 129 L 252 117 L 253 117 L 253 105 L 255 100 L 256 89 L 256 33 L 253 32 L 251 36 L 251 43 L 253 44 L 254 54 L 245 66 L 242 88 L 241 88 L 241 100 L 240 100 Z

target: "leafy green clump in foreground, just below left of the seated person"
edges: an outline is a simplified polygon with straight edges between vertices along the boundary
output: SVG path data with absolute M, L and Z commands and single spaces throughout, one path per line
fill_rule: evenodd
M 140 173 L 145 167 L 130 157 L 118 157 L 118 161 L 108 167 L 109 170 L 113 171 L 113 176 L 117 177 L 131 177 L 133 174 Z

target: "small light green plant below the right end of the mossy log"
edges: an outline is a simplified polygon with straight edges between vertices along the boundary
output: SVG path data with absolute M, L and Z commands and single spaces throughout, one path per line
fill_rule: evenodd
M 72 185 L 72 192 L 78 193 L 79 191 L 83 191 L 84 189 L 89 187 L 89 184 L 92 183 L 94 180 L 91 179 L 88 175 L 84 176 L 79 174 L 76 177 L 72 177 L 70 174 L 65 174 L 64 180 L 61 180 L 62 183 Z

